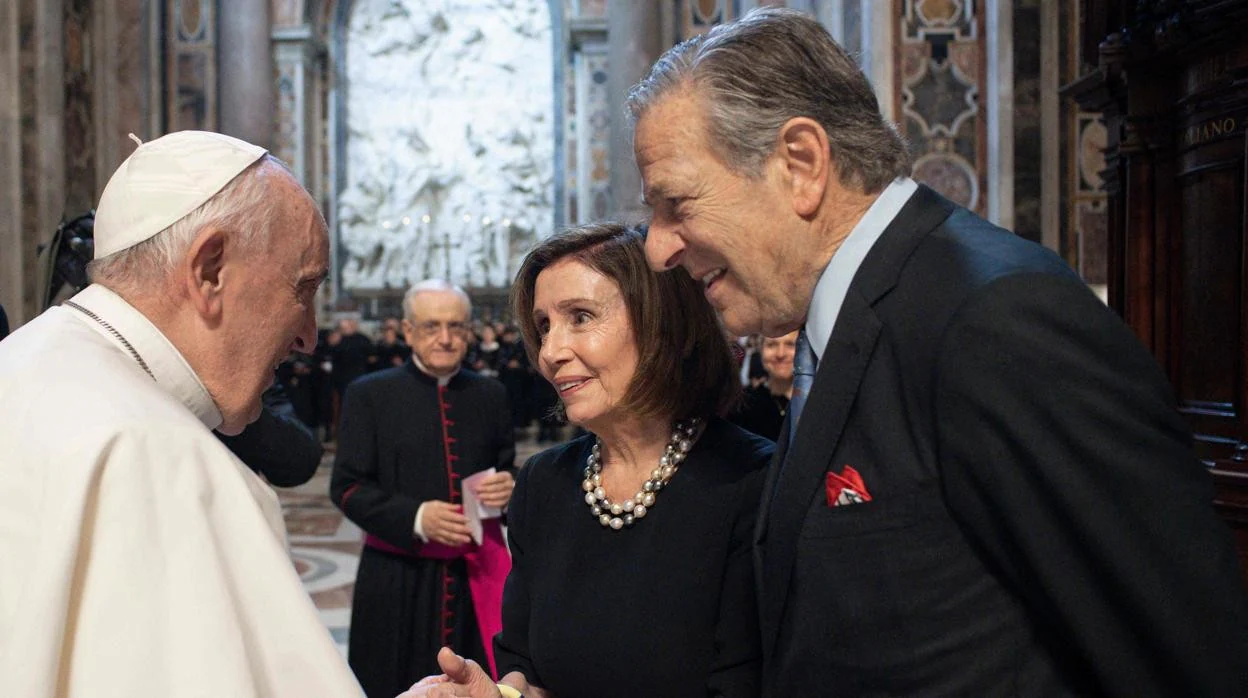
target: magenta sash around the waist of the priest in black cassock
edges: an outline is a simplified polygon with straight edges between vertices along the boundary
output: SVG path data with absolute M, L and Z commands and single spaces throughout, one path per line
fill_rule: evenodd
M 468 568 L 468 592 L 472 596 L 477 614 L 477 629 L 480 643 L 485 648 L 485 661 L 489 662 L 489 674 L 498 679 L 498 667 L 494 663 L 494 636 L 503 629 L 503 584 L 512 571 L 512 556 L 503 541 L 503 527 L 497 518 L 480 522 L 480 544 L 443 546 L 442 543 L 414 543 L 403 549 L 382 541 L 377 536 L 364 536 L 364 544 L 378 551 L 407 557 L 431 559 L 464 558 Z

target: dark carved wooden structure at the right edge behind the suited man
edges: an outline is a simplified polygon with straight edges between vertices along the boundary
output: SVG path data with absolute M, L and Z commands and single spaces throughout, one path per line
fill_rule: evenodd
M 1248 569 L 1248 0 L 1081 0 L 1109 305 L 1169 375 Z M 1164 493 L 1158 493 L 1164 496 Z

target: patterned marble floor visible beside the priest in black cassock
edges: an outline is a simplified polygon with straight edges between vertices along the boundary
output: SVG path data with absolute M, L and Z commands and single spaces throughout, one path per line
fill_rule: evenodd
M 515 462 L 523 463 L 547 446 L 539 446 L 532 438 L 519 441 Z M 363 533 L 329 502 L 332 465 L 333 453 L 326 452 L 321 468 L 311 481 L 300 487 L 277 488 L 277 497 L 282 502 L 295 568 L 316 603 L 321 621 L 346 657 L 351 592 L 356 584 Z

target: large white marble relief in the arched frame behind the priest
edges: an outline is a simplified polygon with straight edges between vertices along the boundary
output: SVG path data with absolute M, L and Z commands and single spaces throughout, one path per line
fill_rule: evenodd
M 510 283 L 554 227 L 545 0 L 358 0 L 348 24 L 342 286 Z

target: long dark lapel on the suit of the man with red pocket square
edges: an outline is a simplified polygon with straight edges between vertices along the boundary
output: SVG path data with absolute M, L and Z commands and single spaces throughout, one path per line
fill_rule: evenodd
M 872 306 L 896 286 L 906 258 L 919 242 L 956 209 L 927 186 L 919 186 L 871 247 L 850 283 L 792 443 L 787 442 L 787 420 L 781 427 L 782 436 L 768 471 L 754 531 L 765 656 L 773 653 L 780 633 L 799 536 L 811 497 L 822 491 L 824 473 L 832 465 L 832 453 L 880 336 L 882 325 Z

